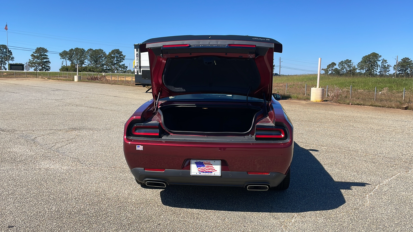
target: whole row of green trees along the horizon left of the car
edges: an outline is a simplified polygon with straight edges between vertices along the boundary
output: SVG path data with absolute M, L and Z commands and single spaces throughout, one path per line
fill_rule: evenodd
M 31 59 L 24 64 L 24 70 L 50 71 L 49 51 L 44 47 L 37 47 L 30 55 Z M 13 52 L 6 45 L 0 45 L 0 69 L 6 70 L 7 54 L 9 62 L 14 61 Z M 104 72 L 104 73 L 131 73 L 128 66 L 122 64 L 125 55 L 119 49 L 114 49 L 108 54 L 102 49 L 72 48 L 69 51 L 59 53 L 62 66 L 59 71 L 75 72 L 78 64 L 81 72 Z M 68 65 L 69 62 L 69 65 Z

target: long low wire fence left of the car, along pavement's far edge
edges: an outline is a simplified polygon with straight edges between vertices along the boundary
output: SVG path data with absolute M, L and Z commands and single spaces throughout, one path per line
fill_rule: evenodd
M 76 72 L 52 72 L 52 71 L 0 71 L 2 78 L 51 78 L 51 79 L 72 79 Z M 135 83 L 135 74 L 133 73 L 85 73 L 79 72 L 83 80 L 109 81 Z

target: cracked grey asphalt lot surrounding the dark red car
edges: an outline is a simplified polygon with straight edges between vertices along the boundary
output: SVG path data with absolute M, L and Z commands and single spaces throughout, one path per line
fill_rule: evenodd
M 122 136 L 145 90 L 0 80 L 0 231 L 413 231 L 413 111 L 281 100 L 286 191 L 144 188 Z

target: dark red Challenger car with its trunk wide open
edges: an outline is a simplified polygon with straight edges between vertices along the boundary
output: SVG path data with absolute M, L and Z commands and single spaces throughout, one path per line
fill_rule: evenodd
M 287 189 L 293 126 L 272 94 L 273 53 L 252 36 L 171 36 L 149 53 L 153 99 L 125 124 L 123 152 L 141 185 Z

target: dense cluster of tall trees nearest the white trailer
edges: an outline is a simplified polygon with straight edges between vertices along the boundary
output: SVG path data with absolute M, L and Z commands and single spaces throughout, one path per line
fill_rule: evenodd
M 127 70 L 128 66 L 122 64 L 126 56 L 119 49 L 106 54 L 102 49 L 75 47 L 60 52 L 59 56 L 63 60 L 60 71 L 76 71 L 77 64 L 82 72 L 131 73 L 131 70 Z

